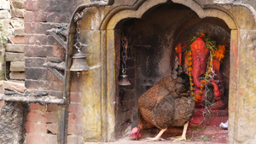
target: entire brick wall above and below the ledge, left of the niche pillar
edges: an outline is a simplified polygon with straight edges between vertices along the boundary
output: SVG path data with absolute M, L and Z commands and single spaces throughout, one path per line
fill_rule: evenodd
M 49 72 L 44 62 L 64 60 L 65 50 L 46 31 L 56 23 L 68 23 L 80 1 L 26 0 L 25 5 L 25 61 L 26 88 L 44 90 L 49 95 L 62 96 L 64 85 Z M 72 5 L 72 7 L 70 7 Z M 26 123 L 26 144 L 56 143 L 58 105 L 30 104 Z M 81 96 L 71 93 L 67 143 L 83 143 Z

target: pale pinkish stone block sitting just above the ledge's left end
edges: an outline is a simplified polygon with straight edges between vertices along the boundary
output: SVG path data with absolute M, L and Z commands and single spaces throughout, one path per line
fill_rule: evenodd
M 23 93 L 26 87 L 24 82 L 4 81 L 3 89 L 9 89 Z

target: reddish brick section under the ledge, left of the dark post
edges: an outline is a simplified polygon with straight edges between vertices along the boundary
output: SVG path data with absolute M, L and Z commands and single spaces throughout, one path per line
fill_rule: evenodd
M 30 104 L 26 122 L 26 144 L 56 143 L 57 106 Z

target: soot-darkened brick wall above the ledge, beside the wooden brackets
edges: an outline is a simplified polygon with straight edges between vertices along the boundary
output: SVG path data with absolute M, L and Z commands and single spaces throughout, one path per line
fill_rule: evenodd
M 67 23 L 70 12 L 63 8 L 70 7 L 67 2 L 50 0 L 26 0 L 24 5 L 26 88 L 30 92 L 47 91 L 49 95 L 61 97 L 63 84 L 43 64 L 51 58 L 64 60 L 65 50 L 46 31 L 55 23 Z

